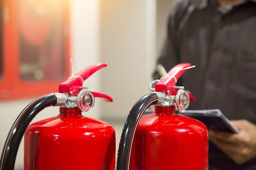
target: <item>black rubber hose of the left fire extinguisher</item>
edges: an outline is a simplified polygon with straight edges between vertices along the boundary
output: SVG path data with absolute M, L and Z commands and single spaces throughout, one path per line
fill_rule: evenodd
M 44 108 L 57 103 L 55 94 L 47 94 L 35 99 L 20 113 L 7 136 L 1 156 L 0 170 L 13 170 L 17 151 L 23 134 L 32 119 Z

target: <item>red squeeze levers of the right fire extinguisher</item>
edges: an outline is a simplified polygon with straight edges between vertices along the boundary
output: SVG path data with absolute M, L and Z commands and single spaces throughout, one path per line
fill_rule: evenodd
M 156 92 L 165 92 L 168 95 L 176 95 L 177 89 L 176 82 L 182 76 L 182 74 L 190 68 L 190 63 L 181 63 L 173 67 L 166 76 L 161 77 L 160 81 L 155 85 Z M 189 93 L 190 101 L 195 101 L 195 97 Z

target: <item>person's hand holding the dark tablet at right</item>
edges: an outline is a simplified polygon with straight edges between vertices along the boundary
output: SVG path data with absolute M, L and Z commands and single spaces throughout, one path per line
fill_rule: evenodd
M 247 120 L 233 120 L 238 134 L 209 131 L 209 139 L 237 164 L 256 157 L 256 125 Z

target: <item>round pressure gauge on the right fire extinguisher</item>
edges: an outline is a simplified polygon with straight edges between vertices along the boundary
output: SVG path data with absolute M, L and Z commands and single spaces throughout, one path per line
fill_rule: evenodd
M 175 103 L 178 110 L 182 111 L 187 109 L 189 107 L 189 93 L 183 89 L 178 90 Z

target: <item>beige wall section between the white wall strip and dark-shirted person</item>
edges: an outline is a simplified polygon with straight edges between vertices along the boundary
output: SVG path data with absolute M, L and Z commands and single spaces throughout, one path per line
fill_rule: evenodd
M 101 0 L 102 91 L 114 102 L 102 103 L 103 119 L 125 120 L 130 108 L 149 92 L 155 62 L 155 0 Z

